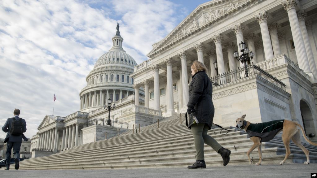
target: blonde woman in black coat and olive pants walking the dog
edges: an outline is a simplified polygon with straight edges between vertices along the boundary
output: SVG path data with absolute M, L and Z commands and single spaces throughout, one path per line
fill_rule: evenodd
M 230 160 L 229 149 L 223 148 L 214 138 L 210 137 L 207 132 L 211 129 L 212 120 L 215 114 L 215 107 L 212 103 L 212 85 L 206 74 L 206 67 L 203 63 L 195 60 L 191 65 L 192 81 L 189 85 L 189 102 L 187 104 L 188 114 L 190 117 L 188 128 L 191 129 L 194 136 L 196 149 L 196 162 L 187 168 L 206 168 L 204 161 L 204 143 L 211 146 L 217 153 L 222 156 L 223 166 L 227 165 Z

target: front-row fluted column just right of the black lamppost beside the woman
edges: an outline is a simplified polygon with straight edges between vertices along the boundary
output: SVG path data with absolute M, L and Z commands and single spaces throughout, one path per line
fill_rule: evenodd
M 272 50 L 270 35 L 268 32 L 268 16 L 266 14 L 266 11 L 264 11 L 263 13 L 259 13 L 258 16 L 255 16 L 255 19 L 260 24 L 261 28 L 265 60 L 272 59 L 274 58 L 274 54 Z

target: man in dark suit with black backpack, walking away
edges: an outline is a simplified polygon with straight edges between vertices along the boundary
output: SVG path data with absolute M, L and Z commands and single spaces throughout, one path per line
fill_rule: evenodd
M 15 157 L 15 169 L 19 169 L 20 148 L 22 144 L 23 133 L 26 132 L 26 122 L 23 118 L 19 118 L 20 110 L 14 109 L 14 117 L 8 118 L 2 130 L 7 132 L 4 143 L 7 142 L 7 152 L 5 153 L 6 170 L 10 169 L 11 149 L 13 147 L 13 157 Z

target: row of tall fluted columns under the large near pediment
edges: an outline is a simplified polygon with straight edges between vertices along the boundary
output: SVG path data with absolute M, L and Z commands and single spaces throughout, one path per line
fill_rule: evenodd
M 295 3 L 294 3 L 295 2 Z M 313 58 L 313 53 L 310 47 L 309 39 L 308 39 L 308 34 L 307 34 L 307 29 L 305 25 L 304 18 L 307 16 L 304 11 L 300 11 L 297 17 L 296 13 L 296 6 L 297 6 L 297 0 L 288 0 L 284 3 L 282 3 L 284 9 L 288 13 L 289 21 L 290 21 L 290 26 L 291 26 L 291 31 L 293 35 L 293 40 L 295 43 L 295 50 L 296 50 L 296 56 L 297 60 L 299 63 L 299 67 L 303 69 L 306 73 L 314 73 L 314 76 L 317 74 L 314 58 Z M 279 45 L 279 39 L 278 39 L 278 34 L 277 34 L 277 29 L 278 25 L 276 23 L 270 25 L 268 27 L 268 15 L 266 11 L 263 13 L 259 13 L 259 15 L 255 16 L 256 21 L 260 25 L 261 29 L 261 35 L 262 35 L 262 41 L 263 41 L 263 49 L 264 49 L 264 55 L 265 55 L 265 60 L 272 59 L 278 55 L 281 55 L 281 49 Z M 244 27 L 240 23 L 238 25 L 235 25 L 235 27 L 231 28 L 232 31 L 236 35 L 236 40 L 237 40 L 237 47 L 241 42 L 244 42 L 243 38 L 243 30 Z M 250 51 L 255 52 L 255 35 L 253 33 L 248 34 L 246 37 L 248 47 Z M 214 62 L 215 62 L 215 54 L 217 56 L 217 64 L 218 64 L 218 71 L 219 74 L 225 73 L 225 65 L 224 65 L 224 60 L 223 60 L 223 51 L 222 51 L 222 35 L 214 35 L 212 37 L 212 40 L 215 44 L 216 47 L 216 52 L 211 51 L 208 52 L 207 54 L 209 55 L 209 60 L 210 60 L 210 70 L 211 70 L 211 76 L 217 76 L 215 67 L 214 67 Z M 303 41 L 303 42 L 302 42 Z M 224 45 L 227 48 L 228 51 L 228 59 L 229 59 L 229 68 L 231 70 L 236 69 L 236 60 L 233 57 L 233 48 L 235 48 L 235 45 L 231 42 L 228 44 Z M 203 58 L 203 49 L 204 45 L 202 43 L 199 43 L 194 46 L 194 49 L 197 51 L 197 60 L 204 63 L 204 58 Z M 305 50 L 306 49 L 306 50 Z M 239 55 L 242 54 L 240 50 Z M 188 73 L 187 73 L 187 56 L 188 53 L 186 51 L 182 51 L 178 54 L 180 60 L 181 60 L 181 76 L 180 79 L 183 80 L 181 81 L 182 83 L 182 91 L 183 91 L 183 108 L 187 105 L 188 103 L 188 84 L 187 80 L 188 79 Z M 256 56 L 253 58 L 253 62 L 257 63 Z M 168 111 L 173 111 L 174 110 L 174 105 L 173 105 L 173 90 L 172 90 L 172 59 L 166 59 L 165 60 L 165 65 L 167 67 L 167 92 L 168 92 Z M 242 63 L 240 63 L 241 67 Z M 154 109 L 155 110 L 160 110 L 160 95 L 159 95 L 159 65 L 155 65 L 152 67 L 153 72 L 154 72 Z M 312 68 L 312 69 L 311 69 Z M 224 81 L 223 81 L 224 82 Z M 143 81 L 144 87 L 145 87 L 145 107 L 149 107 L 149 92 L 148 92 L 148 81 Z M 137 91 L 139 88 L 139 85 L 135 85 L 135 88 Z M 136 94 L 137 95 L 137 94 Z M 139 101 L 135 101 L 135 105 L 139 105 Z

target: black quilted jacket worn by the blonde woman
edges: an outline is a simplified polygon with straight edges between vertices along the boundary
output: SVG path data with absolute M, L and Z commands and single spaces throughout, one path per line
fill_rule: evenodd
M 212 120 L 215 115 L 215 107 L 212 103 L 212 85 L 208 75 L 201 71 L 195 73 L 189 84 L 188 107 L 194 108 L 194 116 L 199 123 L 208 124 L 211 129 Z M 189 119 L 188 128 L 191 128 L 194 120 Z

